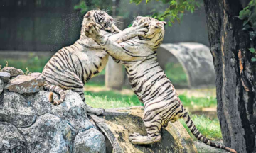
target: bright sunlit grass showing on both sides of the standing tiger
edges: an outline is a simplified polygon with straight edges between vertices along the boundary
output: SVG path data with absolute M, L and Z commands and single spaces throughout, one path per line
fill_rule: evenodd
M 215 105 L 215 98 L 188 98 L 186 95 L 181 95 L 181 99 L 184 101 L 185 107 L 199 105 L 199 106 L 213 106 Z M 120 108 L 129 106 L 142 106 L 143 103 L 139 101 L 136 95 L 125 95 L 120 94 L 118 91 L 100 91 L 92 92 L 85 91 L 85 98 L 88 105 L 95 108 Z M 192 105 L 190 101 L 195 101 Z M 210 104 L 207 104 L 210 103 Z M 201 115 L 191 115 L 193 122 L 195 123 L 198 130 L 207 138 L 211 140 L 220 140 L 222 138 L 220 131 L 220 124 L 218 119 L 211 120 L 210 118 Z M 186 128 L 191 137 L 196 140 L 188 129 L 186 123 L 181 120 L 181 123 Z

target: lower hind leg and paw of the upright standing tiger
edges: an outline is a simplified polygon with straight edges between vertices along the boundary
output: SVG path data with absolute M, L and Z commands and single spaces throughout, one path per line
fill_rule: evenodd
M 144 115 L 145 117 L 145 115 Z M 129 135 L 129 141 L 134 145 L 146 145 L 161 141 L 161 119 L 156 118 L 144 118 L 144 125 L 146 127 L 146 136 L 139 135 L 139 133 L 133 133 Z

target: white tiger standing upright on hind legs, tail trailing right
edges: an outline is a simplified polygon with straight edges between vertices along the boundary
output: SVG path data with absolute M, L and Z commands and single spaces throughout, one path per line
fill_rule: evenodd
M 108 54 L 116 59 L 117 63 L 124 64 L 134 93 L 144 103 L 143 120 L 147 135 L 134 133 L 129 135 L 129 140 L 134 145 L 159 142 L 161 128 L 166 127 L 169 121 L 174 123 L 179 118 L 183 118 L 198 140 L 212 147 L 235 153 L 234 149 L 215 144 L 201 135 L 188 112 L 183 108 L 171 81 L 159 66 L 156 50 L 164 38 L 166 23 L 154 18 L 139 16 L 134 21 L 133 27 L 137 27 L 139 23 L 148 24 L 148 33 L 119 44 L 102 35 L 96 26 L 88 25 L 85 28 L 85 35 L 101 45 Z

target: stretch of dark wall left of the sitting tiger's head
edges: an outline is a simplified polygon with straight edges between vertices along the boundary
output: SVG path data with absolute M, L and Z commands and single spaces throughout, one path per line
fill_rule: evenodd
M 1 0 L 0 50 L 57 50 L 80 34 L 78 0 Z

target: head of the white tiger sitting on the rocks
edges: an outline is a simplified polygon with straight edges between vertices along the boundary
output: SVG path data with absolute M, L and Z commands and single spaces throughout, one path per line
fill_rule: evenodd
M 108 15 L 105 11 L 101 10 L 91 10 L 87 11 L 83 20 L 82 20 L 82 35 L 84 35 L 84 27 L 88 23 L 96 23 L 96 26 L 100 28 L 100 30 L 105 30 L 110 33 L 117 32 L 119 33 L 121 30 L 114 25 L 114 19 L 112 16 Z

